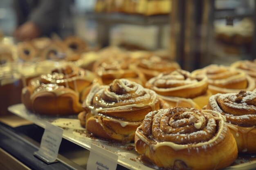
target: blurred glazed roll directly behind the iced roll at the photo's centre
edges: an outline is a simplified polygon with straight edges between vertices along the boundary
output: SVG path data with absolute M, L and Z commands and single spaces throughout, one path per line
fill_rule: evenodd
M 114 79 L 129 79 L 144 86 L 144 75 L 132 65 L 130 57 L 105 57 L 94 64 L 94 71 L 101 77 L 103 84 L 110 84 Z

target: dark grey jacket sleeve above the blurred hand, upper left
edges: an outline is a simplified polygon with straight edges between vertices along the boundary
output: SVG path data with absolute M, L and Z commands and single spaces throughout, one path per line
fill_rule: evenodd
M 29 14 L 29 20 L 34 22 L 47 35 L 56 30 L 61 17 L 63 0 L 40 0 L 38 5 Z

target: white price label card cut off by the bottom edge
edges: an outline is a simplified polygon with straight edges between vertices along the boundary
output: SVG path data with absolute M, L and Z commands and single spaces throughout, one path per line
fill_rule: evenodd
M 116 170 L 118 155 L 91 144 L 88 170 Z

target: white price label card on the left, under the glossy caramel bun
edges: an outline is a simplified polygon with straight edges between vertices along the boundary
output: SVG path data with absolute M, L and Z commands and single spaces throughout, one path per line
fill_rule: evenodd
M 40 148 L 34 153 L 47 163 L 56 161 L 58 157 L 58 149 L 61 145 L 63 129 L 47 122 L 45 132 L 41 139 Z

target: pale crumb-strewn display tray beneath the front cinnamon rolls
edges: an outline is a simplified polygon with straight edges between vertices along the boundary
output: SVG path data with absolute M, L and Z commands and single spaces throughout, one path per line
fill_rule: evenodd
M 34 124 L 45 128 L 45 124 L 50 122 L 64 129 L 63 138 L 90 150 L 90 144 L 95 144 L 103 149 L 114 152 L 118 157 L 117 163 L 130 170 L 154 170 L 157 167 L 148 167 L 139 161 L 139 155 L 135 151 L 134 144 L 119 144 L 110 141 L 104 141 L 93 137 L 88 137 L 83 128 L 79 125 L 77 115 L 71 116 L 46 116 L 36 115 L 29 112 L 23 104 L 10 106 L 8 110 L 24 119 L 32 121 Z M 65 121 L 63 121 L 65 120 Z M 256 155 L 238 156 L 234 165 L 225 168 L 225 170 L 253 170 L 256 169 Z

